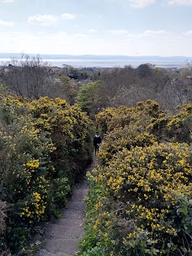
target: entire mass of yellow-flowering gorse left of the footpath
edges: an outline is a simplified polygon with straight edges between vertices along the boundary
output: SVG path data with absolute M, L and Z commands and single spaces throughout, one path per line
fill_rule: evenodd
M 40 223 L 59 216 L 91 163 L 89 126 L 65 99 L 0 97 L 2 250 L 29 253 Z

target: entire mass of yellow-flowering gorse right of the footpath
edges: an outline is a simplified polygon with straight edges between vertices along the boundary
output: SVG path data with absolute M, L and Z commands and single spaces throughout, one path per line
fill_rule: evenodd
M 191 255 L 192 104 L 170 116 L 147 100 L 97 121 L 106 135 L 79 255 Z

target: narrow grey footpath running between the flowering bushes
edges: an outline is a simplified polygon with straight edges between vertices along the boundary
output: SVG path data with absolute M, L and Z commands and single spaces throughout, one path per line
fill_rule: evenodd
M 97 157 L 88 168 L 91 171 L 97 164 Z M 62 211 L 62 217 L 45 227 L 45 245 L 34 256 L 74 256 L 78 252 L 78 243 L 83 237 L 88 182 L 84 180 L 73 190 L 72 199 Z

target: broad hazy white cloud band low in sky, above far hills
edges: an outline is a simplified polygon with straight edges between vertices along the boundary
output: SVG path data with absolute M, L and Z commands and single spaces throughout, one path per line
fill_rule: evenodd
M 50 53 L 50 54 L 95 54 L 95 55 L 140 55 L 189 56 L 191 37 L 164 40 L 159 38 L 135 37 L 129 40 L 116 36 L 93 39 L 86 35 L 72 35 L 65 32 L 10 33 L 0 31 L 2 52 Z M 86 39 L 86 40 L 85 40 Z M 56 47 L 53 47 L 56 45 Z

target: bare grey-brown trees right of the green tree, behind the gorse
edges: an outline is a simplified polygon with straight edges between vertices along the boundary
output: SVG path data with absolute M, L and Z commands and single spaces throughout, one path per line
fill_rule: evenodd
M 142 64 L 137 68 L 115 67 L 95 77 L 102 83 L 106 96 L 104 107 L 135 106 L 138 101 L 155 99 L 163 109 L 177 112 L 191 102 L 192 69 L 190 65 L 179 72 Z M 106 102 L 107 99 L 107 102 Z

